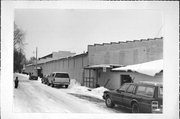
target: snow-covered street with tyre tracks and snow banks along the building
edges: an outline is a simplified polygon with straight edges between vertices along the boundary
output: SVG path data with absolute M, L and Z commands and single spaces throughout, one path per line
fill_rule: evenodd
M 28 80 L 27 75 L 18 76 L 19 86 L 14 89 L 14 112 L 58 112 L 58 113 L 127 113 L 126 109 L 107 108 L 99 89 L 88 90 L 74 80 L 68 89 L 52 88 L 38 80 Z M 122 111 L 124 110 L 124 111 Z

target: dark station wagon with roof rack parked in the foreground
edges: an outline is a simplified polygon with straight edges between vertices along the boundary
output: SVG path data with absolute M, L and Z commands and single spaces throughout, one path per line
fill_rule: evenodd
M 133 113 L 162 113 L 163 86 L 154 82 L 125 83 L 120 89 L 105 91 L 107 107 L 115 104 L 130 108 Z

